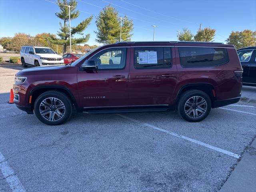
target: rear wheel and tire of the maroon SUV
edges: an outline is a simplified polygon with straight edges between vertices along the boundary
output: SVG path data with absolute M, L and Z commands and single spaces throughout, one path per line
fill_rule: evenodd
M 210 97 L 200 90 L 184 92 L 180 96 L 177 106 L 178 114 L 189 122 L 204 120 L 209 115 L 211 108 L 212 102 Z

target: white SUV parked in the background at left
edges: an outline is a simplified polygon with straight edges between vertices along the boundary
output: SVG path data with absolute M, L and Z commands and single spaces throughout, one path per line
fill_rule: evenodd
M 22 46 L 20 60 L 23 67 L 64 64 L 63 57 L 49 47 Z

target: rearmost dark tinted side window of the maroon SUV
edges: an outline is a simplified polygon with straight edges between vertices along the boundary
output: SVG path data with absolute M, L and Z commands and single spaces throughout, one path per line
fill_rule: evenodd
M 225 48 L 179 47 L 183 67 L 210 67 L 228 62 Z

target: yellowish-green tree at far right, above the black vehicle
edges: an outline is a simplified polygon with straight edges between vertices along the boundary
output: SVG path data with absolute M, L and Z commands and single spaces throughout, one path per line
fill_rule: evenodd
M 236 49 L 256 46 L 256 31 L 243 30 L 243 31 L 232 31 L 226 40 L 228 44 L 232 44 Z

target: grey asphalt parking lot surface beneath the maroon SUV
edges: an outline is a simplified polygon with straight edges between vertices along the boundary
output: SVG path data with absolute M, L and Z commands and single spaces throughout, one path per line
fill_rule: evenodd
M 21 68 L 0 66 L 0 191 L 217 192 L 256 137 L 256 104 L 242 101 L 198 123 L 168 111 L 46 126 L 7 103 Z

